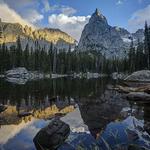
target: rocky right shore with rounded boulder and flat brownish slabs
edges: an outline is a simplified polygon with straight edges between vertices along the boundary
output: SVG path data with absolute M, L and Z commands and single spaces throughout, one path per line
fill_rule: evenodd
M 133 72 L 112 89 L 122 93 L 129 101 L 150 103 L 150 71 Z

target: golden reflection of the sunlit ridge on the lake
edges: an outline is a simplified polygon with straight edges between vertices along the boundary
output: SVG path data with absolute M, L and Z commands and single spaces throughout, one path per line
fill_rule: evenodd
M 0 125 L 20 124 L 22 121 L 29 122 L 32 118 L 48 119 L 55 114 L 66 114 L 74 110 L 74 103 L 68 102 L 68 100 L 60 101 L 56 100 L 48 105 L 40 105 L 41 107 L 34 107 L 32 105 L 25 105 L 21 103 L 18 106 L 8 106 L 8 108 L 0 114 Z M 26 114 L 26 115 L 21 115 Z

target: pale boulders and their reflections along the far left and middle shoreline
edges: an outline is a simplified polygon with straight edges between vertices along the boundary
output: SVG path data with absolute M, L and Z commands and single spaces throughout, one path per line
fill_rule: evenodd
M 56 78 L 86 78 L 86 79 L 94 79 L 100 77 L 107 77 L 106 74 L 99 73 L 72 73 L 72 74 L 54 74 L 54 73 L 43 73 L 39 71 L 28 71 L 24 67 L 18 67 L 11 70 L 6 71 L 4 74 L 0 75 L 0 78 L 6 79 L 6 81 L 15 83 L 15 84 L 25 84 L 27 81 L 34 81 L 39 79 L 56 79 Z

